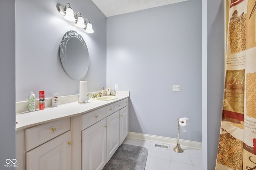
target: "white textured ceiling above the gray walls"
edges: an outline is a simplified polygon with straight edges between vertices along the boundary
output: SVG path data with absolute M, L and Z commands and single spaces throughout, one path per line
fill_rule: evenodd
M 92 0 L 106 17 L 174 4 L 186 0 Z

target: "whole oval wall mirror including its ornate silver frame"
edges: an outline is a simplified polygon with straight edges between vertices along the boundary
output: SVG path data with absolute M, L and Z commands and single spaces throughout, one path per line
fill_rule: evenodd
M 66 73 L 75 80 L 82 79 L 88 71 L 88 49 L 83 37 L 76 31 L 64 34 L 60 43 L 60 60 Z

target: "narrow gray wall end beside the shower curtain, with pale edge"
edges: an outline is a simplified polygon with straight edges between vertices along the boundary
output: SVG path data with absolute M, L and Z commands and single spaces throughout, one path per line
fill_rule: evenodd
M 223 0 L 204 1 L 203 14 L 203 169 L 214 170 L 224 92 Z

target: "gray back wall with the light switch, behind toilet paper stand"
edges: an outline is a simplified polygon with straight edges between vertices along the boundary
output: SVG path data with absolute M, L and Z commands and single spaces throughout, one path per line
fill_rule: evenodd
M 107 86 L 130 91 L 129 131 L 202 141 L 202 2 L 107 18 Z M 172 92 L 180 85 L 180 92 Z

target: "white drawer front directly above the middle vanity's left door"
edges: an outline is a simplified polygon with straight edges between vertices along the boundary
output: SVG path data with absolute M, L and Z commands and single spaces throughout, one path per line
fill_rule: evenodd
M 82 115 L 82 130 L 106 117 L 106 107 Z

